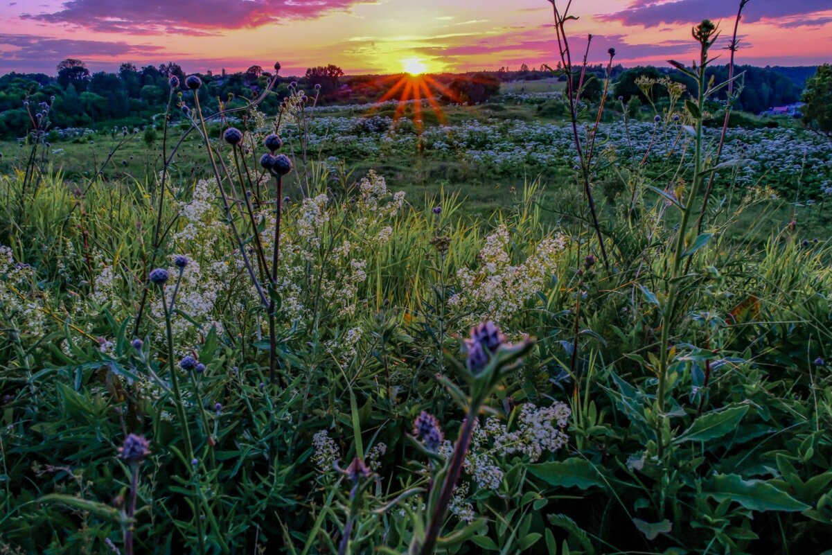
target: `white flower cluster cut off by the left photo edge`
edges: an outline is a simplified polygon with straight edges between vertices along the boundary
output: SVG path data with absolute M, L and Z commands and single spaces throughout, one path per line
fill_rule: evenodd
M 46 295 L 35 289 L 35 270 L 17 264 L 12 249 L 0 245 L 0 322 L 22 333 L 42 335 Z

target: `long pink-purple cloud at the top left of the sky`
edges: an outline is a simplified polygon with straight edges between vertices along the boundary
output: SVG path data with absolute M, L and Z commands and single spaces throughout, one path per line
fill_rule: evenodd
M 366 0 L 67 0 L 57 12 L 21 17 L 101 32 L 151 34 L 260 27 L 319 17 Z

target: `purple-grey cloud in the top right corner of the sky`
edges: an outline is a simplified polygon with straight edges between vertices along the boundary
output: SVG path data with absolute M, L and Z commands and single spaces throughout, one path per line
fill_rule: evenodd
M 725 0 L 676 0 L 675 2 L 656 2 L 656 0 L 635 0 L 626 10 L 598 16 L 605 21 L 622 22 L 625 25 L 654 27 L 663 23 L 692 23 L 702 19 L 720 19 L 736 15 L 739 2 Z M 744 22 L 757 22 L 761 19 L 776 19 L 794 15 L 823 12 L 830 9 L 830 0 L 800 0 L 800 2 L 783 2 L 782 0 L 754 0 L 749 2 L 742 12 Z

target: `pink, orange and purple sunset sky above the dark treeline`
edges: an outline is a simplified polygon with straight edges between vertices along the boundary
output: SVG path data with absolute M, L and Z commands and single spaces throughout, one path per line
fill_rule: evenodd
M 557 0 L 558 5 L 565 4 Z M 725 46 L 739 0 L 573 0 L 572 47 L 591 62 L 690 62 L 691 26 L 719 22 Z M 832 62 L 832 0 L 750 0 L 737 62 Z M 727 52 L 721 52 L 727 59 Z M 55 74 L 75 57 L 92 72 L 177 62 L 186 72 L 270 68 L 300 75 L 334 63 L 348 74 L 554 64 L 549 0 L 0 0 L 0 73 Z

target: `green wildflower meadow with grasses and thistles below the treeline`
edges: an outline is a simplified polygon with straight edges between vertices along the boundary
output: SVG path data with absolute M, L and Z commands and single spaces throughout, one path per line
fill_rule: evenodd
M 27 107 L 0 553 L 832 553 L 832 143 L 728 126 L 715 32 L 635 110 Z

